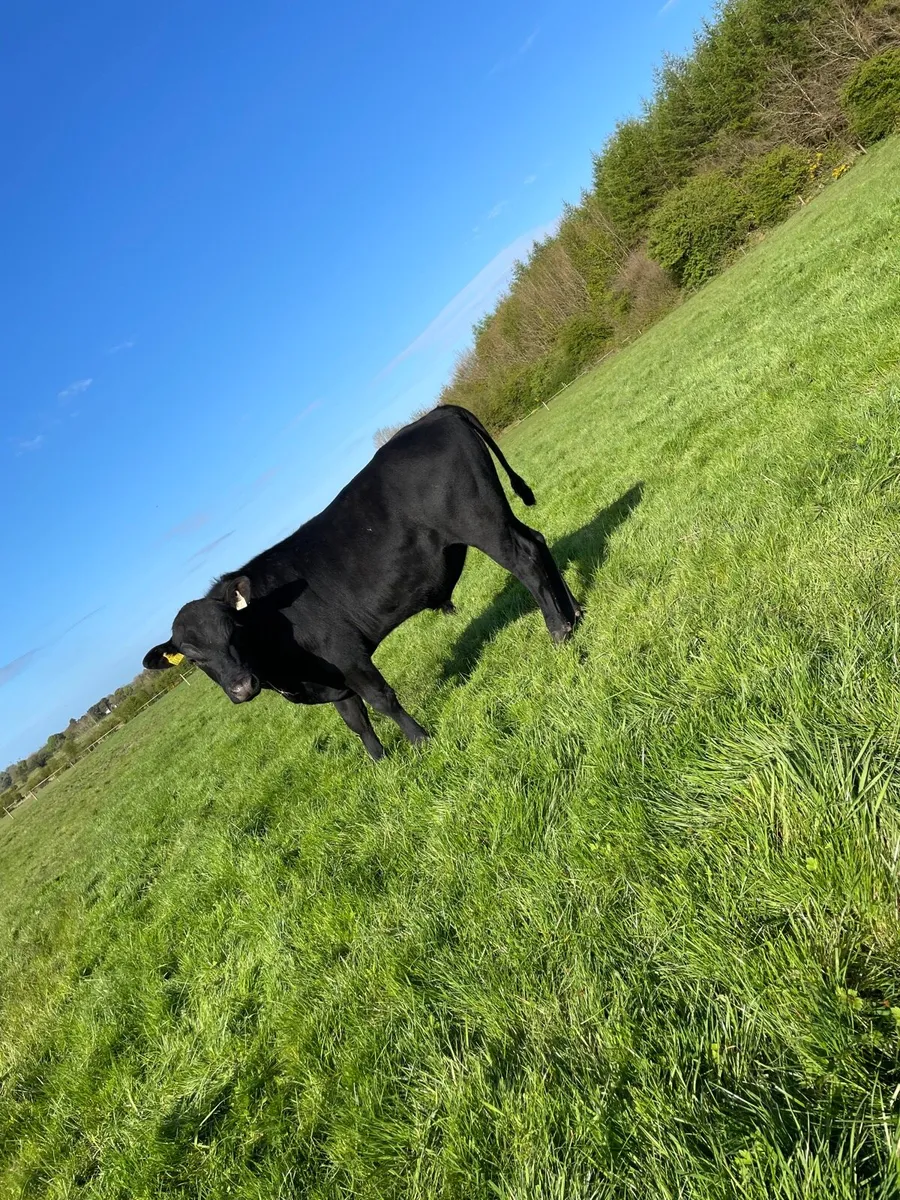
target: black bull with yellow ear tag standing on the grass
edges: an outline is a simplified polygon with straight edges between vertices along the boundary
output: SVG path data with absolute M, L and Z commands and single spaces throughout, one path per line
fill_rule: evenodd
M 295 704 L 332 703 L 373 758 L 384 748 L 366 704 L 420 742 L 426 731 L 372 654 L 416 612 L 451 608 L 469 546 L 528 588 L 556 642 L 581 617 L 544 538 L 510 508 L 488 446 L 515 493 L 534 504 L 472 413 L 436 408 L 395 434 L 318 516 L 186 604 L 172 640 L 149 650 L 144 666 L 162 670 L 184 654 L 235 703 L 263 688 Z

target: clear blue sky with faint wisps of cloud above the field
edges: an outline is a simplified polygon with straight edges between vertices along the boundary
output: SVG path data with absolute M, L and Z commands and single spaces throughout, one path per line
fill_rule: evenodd
M 6 7 L 0 767 L 436 396 L 709 10 Z

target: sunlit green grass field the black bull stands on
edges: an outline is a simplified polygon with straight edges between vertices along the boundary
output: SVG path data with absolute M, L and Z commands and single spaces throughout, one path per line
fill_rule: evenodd
M 900 1194 L 899 234 L 895 139 L 506 438 L 587 617 L 473 554 L 427 749 L 197 679 L 0 822 L 0 1194 Z

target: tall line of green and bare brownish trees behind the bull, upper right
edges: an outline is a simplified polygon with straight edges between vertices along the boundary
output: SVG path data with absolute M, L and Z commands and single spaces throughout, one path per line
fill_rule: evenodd
M 590 187 L 516 265 L 437 402 L 494 431 L 532 412 L 899 121 L 899 2 L 722 4 L 594 156 Z

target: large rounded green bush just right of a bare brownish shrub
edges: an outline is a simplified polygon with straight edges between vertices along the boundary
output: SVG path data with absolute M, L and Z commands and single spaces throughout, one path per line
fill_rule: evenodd
M 683 287 L 696 288 L 720 270 L 749 228 L 746 197 L 721 172 L 709 172 L 664 199 L 650 218 L 648 250 Z

